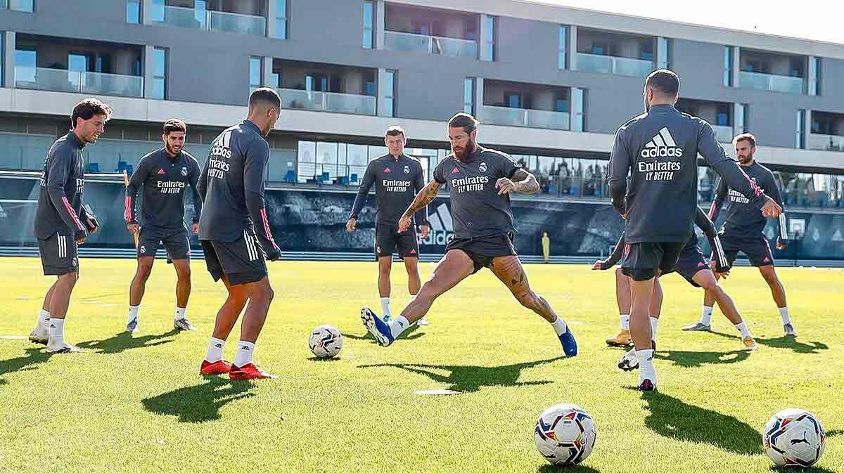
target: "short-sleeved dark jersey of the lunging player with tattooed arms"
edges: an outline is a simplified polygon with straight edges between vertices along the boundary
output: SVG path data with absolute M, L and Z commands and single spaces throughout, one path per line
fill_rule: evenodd
M 515 232 L 510 195 L 498 195 L 495 181 L 511 178 L 522 165 L 495 149 L 478 146 L 461 161 L 449 154 L 434 169 L 434 180 L 448 184 L 452 196 L 454 238 Z

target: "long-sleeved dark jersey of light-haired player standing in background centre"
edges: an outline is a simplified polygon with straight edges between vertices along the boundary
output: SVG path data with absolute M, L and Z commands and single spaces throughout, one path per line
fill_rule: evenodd
M 374 159 L 366 166 L 364 179 L 360 181 L 358 195 L 354 197 L 349 218 L 358 218 L 373 184 L 377 208 L 376 223 L 394 225 L 414 202 L 416 193 L 425 187 L 425 171 L 422 170 L 419 159 L 404 154 L 398 159 L 392 154 Z M 414 217 L 417 225 L 425 225 L 428 222 L 427 207 L 422 207 Z

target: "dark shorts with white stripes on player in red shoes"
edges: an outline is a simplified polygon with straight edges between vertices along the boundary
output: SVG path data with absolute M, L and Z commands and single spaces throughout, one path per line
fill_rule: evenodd
M 205 264 L 214 281 L 224 275 L 231 285 L 257 282 L 267 276 L 267 261 L 255 228 L 246 228 L 235 241 L 202 240 Z

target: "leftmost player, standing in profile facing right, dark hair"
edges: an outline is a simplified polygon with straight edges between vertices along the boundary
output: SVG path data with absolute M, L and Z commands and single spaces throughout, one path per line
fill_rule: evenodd
M 35 211 L 35 237 L 44 276 L 57 276 L 44 297 L 38 324 L 30 341 L 47 346 L 47 352 L 80 352 L 64 341 L 64 320 L 70 294 L 79 278 L 78 245 L 100 224 L 82 204 L 84 163 L 82 148 L 106 132 L 111 107 L 98 99 L 84 99 L 73 107 L 72 129 L 50 147 L 41 173 L 41 191 Z

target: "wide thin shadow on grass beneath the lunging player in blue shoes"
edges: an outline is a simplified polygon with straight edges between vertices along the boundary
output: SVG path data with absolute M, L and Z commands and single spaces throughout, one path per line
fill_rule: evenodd
M 532 386 L 537 384 L 550 384 L 552 381 L 527 381 L 520 383 L 519 375 L 522 369 L 533 368 L 545 363 L 555 362 L 564 357 L 549 358 L 535 362 L 508 364 L 504 366 L 455 366 L 455 365 L 430 365 L 416 363 L 380 363 L 362 365 L 358 368 L 400 368 L 410 373 L 423 374 L 437 383 L 449 384 L 447 390 L 455 390 L 462 393 L 473 393 L 487 386 Z M 438 374 L 433 370 L 449 371 L 448 376 Z

